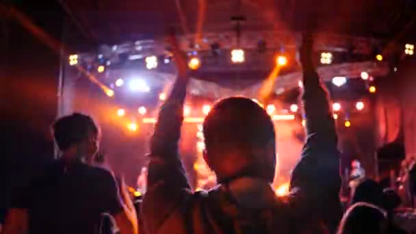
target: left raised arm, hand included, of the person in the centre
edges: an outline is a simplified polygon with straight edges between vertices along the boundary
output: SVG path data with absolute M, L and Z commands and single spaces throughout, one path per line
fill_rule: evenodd
M 151 138 L 148 190 L 142 203 L 143 220 L 149 233 L 156 233 L 181 200 L 190 195 L 190 185 L 178 153 L 188 83 L 187 66 L 174 37 L 170 40 L 178 77 L 170 96 L 160 109 L 155 133 Z

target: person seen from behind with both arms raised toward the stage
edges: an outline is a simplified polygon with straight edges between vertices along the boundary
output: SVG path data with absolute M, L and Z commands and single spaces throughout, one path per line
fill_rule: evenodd
M 307 39 L 300 55 L 308 136 L 284 202 L 270 186 L 276 164 L 273 122 L 242 97 L 219 101 L 205 118 L 204 158 L 218 186 L 191 192 L 178 154 L 189 78 L 172 36 L 179 75 L 151 139 L 142 207 L 146 233 L 335 233 L 342 215 L 337 135 Z

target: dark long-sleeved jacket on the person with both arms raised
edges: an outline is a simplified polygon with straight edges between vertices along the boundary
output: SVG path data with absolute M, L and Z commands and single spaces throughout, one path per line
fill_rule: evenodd
M 268 183 L 252 178 L 220 184 L 209 192 L 191 192 L 178 154 L 185 93 L 186 83 L 179 79 L 161 107 L 151 140 L 148 191 L 142 206 L 147 233 L 336 231 L 342 215 L 337 135 L 327 93 L 314 70 L 304 71 L 307 142 L 291 178 L 288 202 L 278 200 Z M 246 186 L 244 192 L 249 191 L 248 199 L 230 196 L 230 187 L 239 183 Z

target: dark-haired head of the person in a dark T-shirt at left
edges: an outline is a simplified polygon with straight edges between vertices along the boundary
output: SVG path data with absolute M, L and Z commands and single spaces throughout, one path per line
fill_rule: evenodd
M 99 128 L 90 116 L 71 114 L 52 125 L 53 138 L 64 155 L 92 160 L 99 148 Z

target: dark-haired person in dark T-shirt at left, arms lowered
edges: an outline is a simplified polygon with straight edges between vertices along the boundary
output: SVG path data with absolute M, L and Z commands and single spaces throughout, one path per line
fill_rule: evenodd
M 120 233 L 137 233 L 135 211 L 121 202 L 112 173 L 91 165 L 99 149 L 94 120 L 72 114 L 52 129 L 62 157 L 14 194 L 3 233 L 99 233 L 103 213 Z

